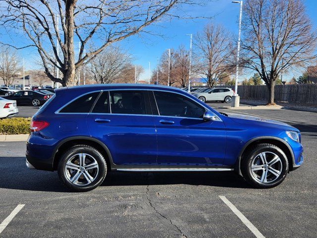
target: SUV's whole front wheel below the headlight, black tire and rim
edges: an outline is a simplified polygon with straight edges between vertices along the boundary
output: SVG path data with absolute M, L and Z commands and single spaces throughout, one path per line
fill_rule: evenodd
M 254 167 L 259 167 L 259 168 L 262 166 L 261 162 L 259 162 L 261 161 L 261 156 L 258 156 L 262 153 L 264 154 L 267 153 L 266 156 L 270 158 L 274 158 L 277 155 L 280 160 L 278 162 L 275 162 L 273 165 L 266 165 L 266 169 L 265 169 L 265 166 L 263 166 L 263 169 L 259 169 L 257 171 L 252 172 L 252 169 L 251 169 L 252 165 Z M 270 163 L 269 162 L 270 158 L 265 159 L 265 161 L 266 160 L 268 161 L 267 164 Z M 257 163 L 259 163 L 260 165 L 254 164 L 255 161 L 257 161 Z M 273 168 L 273 166 L 278 166 L 278 168 L 277 169 L 276 167 Z M 288 164 L 288 160 L 285 153 L 279 147 L 272 144 L 258 144 L 254 146 L 253 148 L 246 151 L 246 153 L 244 153 L 241 160 L 241 173 L 243 175 L 243 178 L 249 184 L 257 188 L 271 188 L 271 187 L 277 186 L 286 178 L 288 170 L 289 170 L 289 164 Z M 265 171 L 267 171 L 266 174 L 264 174 Z M 277 173 L 275 173 L 276 175 L 274 175 L 270 171 L 272 172 L 278 171 L 278 173 L 280 174 L 277 177 L 276 176 L 278 175 Z M 265 178 L 264 182 L 261 182 L 260 180 L 263 178 L 262 176 L 266 178 L 271 178 L 271 181 L 270 179 L 266 180 Z

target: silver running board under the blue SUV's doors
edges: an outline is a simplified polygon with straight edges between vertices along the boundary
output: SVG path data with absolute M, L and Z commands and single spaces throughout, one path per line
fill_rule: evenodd
M 233 171 L 231 168 L 144 168 L 144 169 L 116 169 L 116 171 L 127 171 L 127 172 L 175 172 L 175 171 Z

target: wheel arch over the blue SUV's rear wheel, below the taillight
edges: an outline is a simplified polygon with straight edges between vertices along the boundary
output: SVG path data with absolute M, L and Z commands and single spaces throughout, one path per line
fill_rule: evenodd
M 102 153 L 102 155 L 106 159 L 107 166 L 110 168 L 113 167 L 113 161 L 112 161 L 112 156 L 111 153 L 108 149 L 108 147 L 101 142 L 100 140 L 89 137 L 89 136 L 72 136 L 63 139 L 61 142 L 59 142 L 56 146 L 56 148 L 53 151 L 53 171 L 57 169 L 58 161 L 60 159 L 60 156 L 64 151 L 66 151 L 68 148 L 74 145 L 89 145 Z

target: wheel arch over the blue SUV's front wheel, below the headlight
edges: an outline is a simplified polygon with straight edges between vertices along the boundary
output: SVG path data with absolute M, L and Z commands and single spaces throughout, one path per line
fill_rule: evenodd
M 237 171 L 239 173 L 239 175 L 242 175 L 240 164 L 241 164 L 241 159 L 242 159 L 244 153 L 248 151 L 248 148 L 251 148 L 252 146 L 254 146 L 256 144 L 260 144 L 260 143 L 273 144 L 273 145 L 278 146 L 281 150 L 283 150 L 283 152 L 285 153 L 285 155 L 287 157 L 288 163 L 289 163 L 289 170 L 290 171 L 293 170 L 293 164 L 294 164 L 295 159 L 294 159 L 294 153 L 293 153 L 291 146 L 285 140 L 278 138 L 278 137 L 260 136 L 260 137 L 256 137 L 256 138 L 249 140 L 243 146 L 243 148 L 240 150 L 237 162 L 235 164 L 235 171 Z

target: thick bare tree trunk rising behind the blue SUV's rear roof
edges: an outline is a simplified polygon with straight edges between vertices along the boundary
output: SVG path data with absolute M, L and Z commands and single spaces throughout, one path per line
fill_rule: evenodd
M 66 0 L 65 18 L 66 18 L 66 42 L 67 42 L 67 70 L 64 76 L 65 86 L 69 81 L 73 81 L 76 74 L 75 55 L 74 55 L 74 7 L 76 0 Z M 63 85 L 64 86 L 64 85 Z

